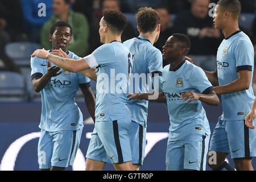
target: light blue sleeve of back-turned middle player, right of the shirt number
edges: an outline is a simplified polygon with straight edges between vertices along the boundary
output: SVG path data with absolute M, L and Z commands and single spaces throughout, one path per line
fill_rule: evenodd
M 159 76 L 162 76 L 163 71 L 163 56 L 162 53 L 156 49 L 148 55 L 148 72 L 149 73 L 159 73 Z

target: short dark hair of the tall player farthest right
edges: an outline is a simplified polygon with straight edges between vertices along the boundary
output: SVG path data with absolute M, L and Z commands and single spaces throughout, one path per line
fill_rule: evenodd
M 220 0 L 217 3 L 223 11 L 230 11 L 233 19 L 238 19 L 241 14 L 241 3 L 238 0 Z

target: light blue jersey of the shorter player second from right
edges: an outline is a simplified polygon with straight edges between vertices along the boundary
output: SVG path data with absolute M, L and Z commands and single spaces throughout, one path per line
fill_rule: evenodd
M 201 101 L 187 104 L 181 100 L 181 93 L 188 91 L 204 94 L 213 91 L 204 71 L 185 60 L 175 71 L 170 71 L 170 65 L 164 67 L 163 93 L 171 123 L 169 140 L 179 140 L 189 134 L 210 135 L 209 122 Z

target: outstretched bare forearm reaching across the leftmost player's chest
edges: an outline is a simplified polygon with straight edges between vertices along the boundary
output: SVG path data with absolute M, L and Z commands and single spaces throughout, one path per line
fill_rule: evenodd
M 65 57 L 56 56 L 53 54 L 48 55 L 48 60 L 52 61 L 52 63 L 58 65 L 60 68 L 63 68 L 65 71 L 69 72 L 79 72 L 83 69 L 88 69 L 89 67 L 85 67 L 81 60 L 68 59 Z

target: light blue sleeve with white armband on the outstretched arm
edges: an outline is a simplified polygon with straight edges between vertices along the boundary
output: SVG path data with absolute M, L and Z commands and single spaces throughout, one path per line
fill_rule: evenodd
M 104 44 L 98 47 L 92 54 L 84 57 L 90 68 L 108 65 L 114 60 L 114 48 L 110 44 Z

